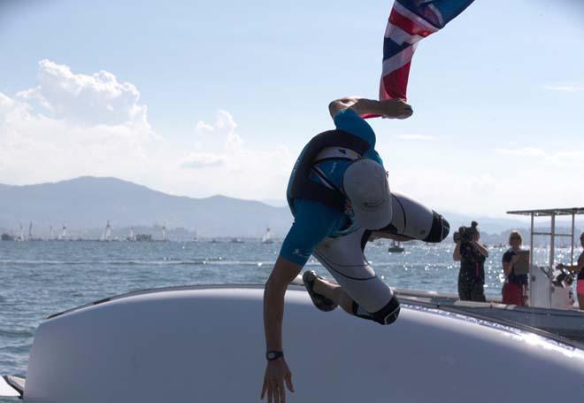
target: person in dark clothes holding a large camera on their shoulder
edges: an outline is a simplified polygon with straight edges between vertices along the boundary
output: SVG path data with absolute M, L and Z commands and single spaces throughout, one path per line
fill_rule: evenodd
M 486 302 L 485 298 L 485 260 L 487 248 L 479 244 L 479 224 L 473 221 L 470 228 L 460 227 L 454 233 L 457 244 L 452 258 L 460 262 L 458 273 L 458 298 L 461 301 Z

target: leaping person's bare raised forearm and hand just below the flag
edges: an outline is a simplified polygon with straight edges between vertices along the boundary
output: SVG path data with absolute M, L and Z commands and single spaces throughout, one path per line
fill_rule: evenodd
M 402 99 L 375 101 L 360 97 L 344 97 L 328 105 L 328 112 L 333 119 L 337 113 L 345 109 L 352 109 L 359 115 L 376 114 L 389 119 L 407 119 L 413 113 L 411 106 Z

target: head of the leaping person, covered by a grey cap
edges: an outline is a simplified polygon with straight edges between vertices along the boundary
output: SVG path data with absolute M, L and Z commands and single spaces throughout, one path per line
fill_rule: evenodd
M 391 193 L 385 169 L 372 159 L 357 159 L 347 168 L 342 185 L 357 223 L 382 229 L 391 223 Z

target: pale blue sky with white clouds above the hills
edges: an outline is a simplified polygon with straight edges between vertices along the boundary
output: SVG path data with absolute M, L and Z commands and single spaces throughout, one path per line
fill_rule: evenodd
M 378 93 L 391 1 L 0 0 L 0 183 L 115 176 L 283 200 L 327 105 Z M 584 4 L 477 0 L 421 43 L 409 120 L 369 120 L 438 210 L 584 205 Z

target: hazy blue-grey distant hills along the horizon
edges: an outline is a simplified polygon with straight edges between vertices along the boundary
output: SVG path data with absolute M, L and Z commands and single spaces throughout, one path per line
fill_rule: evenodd
M 33 221 L 36 235 L 47 234 L 66 224 L 68 229 L 103 229 L 110 220 L 113 229 L 165 225 L 168 229 L 196 230 L 198 236 L 262 236 L 265 227 L 275 236 L 285 236 L 292 222 L 288 207 L 213 196 L 187 198 L 116 178 L 85 176 L 56 183 L 26 186 L 0 184 L 0 229 L 15 232 Z M 526 221 L 470 217 L 443 213 L 452 229 L 476 220 L 486 234 L 526 228 Z

